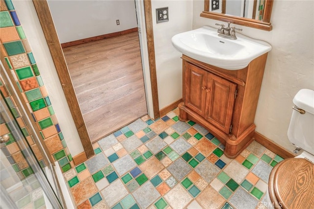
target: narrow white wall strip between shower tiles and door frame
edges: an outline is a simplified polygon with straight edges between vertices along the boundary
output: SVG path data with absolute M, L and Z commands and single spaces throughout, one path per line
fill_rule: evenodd
M 83 152 L 52 57 L 31 0 L 12 0 L 72 156 Z

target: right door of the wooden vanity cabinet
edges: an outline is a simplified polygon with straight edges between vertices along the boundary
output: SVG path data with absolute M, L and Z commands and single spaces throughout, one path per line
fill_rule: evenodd
M 229 133 L 235 103 L 236 84 L 208 73 L 205 119 Z

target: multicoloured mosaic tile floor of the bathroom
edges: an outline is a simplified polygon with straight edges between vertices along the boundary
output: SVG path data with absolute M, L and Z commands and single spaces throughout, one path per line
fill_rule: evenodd
M 96 156 L 64 174 L 78 209 L 255 209 L 283 159 L 253 141 L 235 159 L 178 109 L 144 116 L 93 144 Z

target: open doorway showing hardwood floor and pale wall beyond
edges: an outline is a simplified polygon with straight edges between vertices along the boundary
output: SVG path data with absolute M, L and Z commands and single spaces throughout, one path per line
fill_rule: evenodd
M 126 2 L 130 4 L 130 1 Z M 136 13 L 129 9 L 133 17 L 122 14 L 120 14 L 121 16 L 114 16 L 117 13 L 128 12 L 126 6 L 121 8 L 123 1 L 80 1 L 79 4 L 74 1 L 55 3 L 48 1 L 48 3 L 61 46 L 68 46 L 63 47 L 63 53 L 91 142 L 102 139 L 146 115 L 147 107 L 138 32 L 120 35 L 121 31 L 116 31 L 121 29 L 126 29 L 123 32 L 133 31 L 133 29 L 137 31 L 137 25 L 132 29 L 126 28 L 126 26 L 112 25 L 113 20 L 119 17 L 119 23 L 122 26 L 123 22 L 127 21 L 123 19 L 124 17 L 134 19 L 136 22 Z M 133 6 L 135 9 L 135 2 L 133 2 Z M 70 15 L 67 8 L 73 7 L 75 10 L 72 9 Z M 97 17 L 100 22 L 108 25 L 108 29 L 99 29 L 98 25 L 91 26 L 90 24 L 93 23 L 88 24 L 86 22 L 87 17 L 83 20 L 79 19 L 81 12 L 89 14 L 88 11 L 92 10 L 94 14 L 90 15 L 90 19 L 95 21 L 94 19 Z M 66 12 L 63 13 L 62 11 Z M 101 12 L 101 14 L 97 15 L 97 12 Z M 63 15 L 67 16 L 68 19 L 65 20 Z M 110 16 L 107 19 L 108 15 L 114 17 Z M 80 21 L 75 22 L 71 18 Z M 130 20 L 128 21 L 130 22 Z M 65 22 L 71 23 L 71 25 Z M 79 24 L 80 27 L 78 28 L 75 24 Z M 85 24 L 87 28 L 81 27 L 82 24 Z M 67 26 L 66 29 L 64 29 L 65 26 Z M 129 23 L 129 27 L 132 26 L 134 27 L 132 23 Z M 69 37 L 72 30 L 76 31 L 73 38 Z M 89 31 L 85 32 L 86 30 Z M 95 30 L 95 33 L 91 30 Z M 112 32 L 111 35 L 118 34 L 118 36 L 91 41 L 100 36 L 110 36 L 110 34 L 101 34 L 107 32 Z M 79 33 L 86 34 L 79 36 L 77 35 Z M 81 37 L 84 39 L 74 40 Z M 75 45 L 75 43 L 79 45 Z

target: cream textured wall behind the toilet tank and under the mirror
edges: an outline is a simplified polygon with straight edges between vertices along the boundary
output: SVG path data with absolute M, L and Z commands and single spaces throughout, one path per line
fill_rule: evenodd
M 193 28 L 219 22 L 199 17 L 203 7 L 203 0 L 193 1 Z M 303 88 L 314 90 L 313 8 L 312 0 L 276 0 L 271 15 L 272 31 L 237 26 L 243 28 L 242 34 L 273 47 L 267 57 L 255 117 L 256 131 L 288 150 L 294 149 L 287 137 L 293 96 Z

